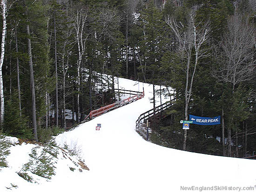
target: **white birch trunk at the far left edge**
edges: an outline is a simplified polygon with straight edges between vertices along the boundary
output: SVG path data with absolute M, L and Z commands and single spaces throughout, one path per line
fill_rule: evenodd
M 6 23 L 6 0 L 1 0 L 2 6 L 2 20 L 3 20 L 3 28 L 2 28 L 2 41 L 1 41 L 1 57 L 0 57 L 0 126 L 3 128 L 4 123 L 4 86 L 3 86 L 3 75 L 2 75 L 2 67 L 4 64 L 4 57 L 5 57 L 5 37 L 6 37 L 6 30 L 7 30 L 7 23 Z

